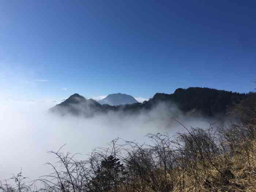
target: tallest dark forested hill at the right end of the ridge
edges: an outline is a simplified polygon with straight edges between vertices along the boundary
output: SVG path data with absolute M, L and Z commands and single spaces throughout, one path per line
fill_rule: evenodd
M 184 112 L 196 110 L 207 116 L 215 116 L 219 113 L 226 114 L 230 106 L 237 105 L 247 96 L 247 94 L 231 91 L 189 87 L 188 89 L 176 89 L 173 94 L 157 93 L 153 97 L 153 102 L 171 101 Z

